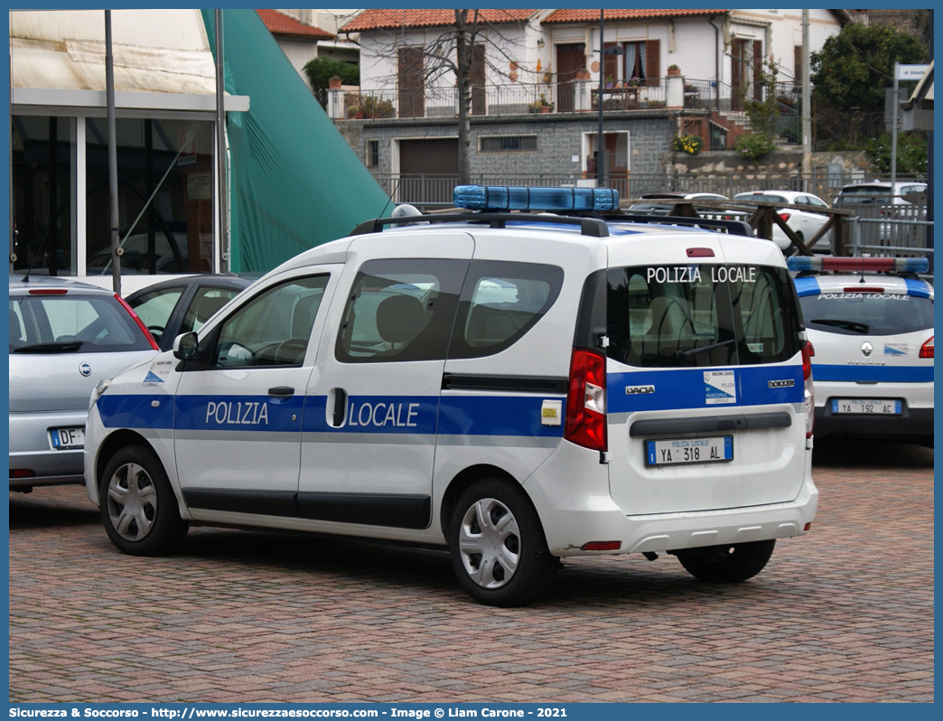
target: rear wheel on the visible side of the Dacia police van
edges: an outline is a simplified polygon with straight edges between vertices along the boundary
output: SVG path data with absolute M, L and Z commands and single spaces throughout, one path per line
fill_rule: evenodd
M 455 576 L 488 606 L 523 606 L 544 595 L 559 560 L 521 486 L 484 478 L 459 497 L 449 525 Z

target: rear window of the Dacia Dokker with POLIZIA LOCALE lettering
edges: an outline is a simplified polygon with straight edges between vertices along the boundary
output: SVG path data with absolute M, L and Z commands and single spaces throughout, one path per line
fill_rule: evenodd
M 608 273 L 609 357 L 710 367 L 788 360 L 802 323 L 785 268 L 659 265 Z

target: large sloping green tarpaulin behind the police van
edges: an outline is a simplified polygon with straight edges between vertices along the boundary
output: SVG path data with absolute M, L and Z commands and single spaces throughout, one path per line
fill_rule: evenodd
M 216 52 L 215 11 L 203 10 Z M 223 10 L 226 92 L 249 96 L 227 113 L 234 273 L 292 256 L 389 214 L 389 196 L 341 137 L 254 9 Z

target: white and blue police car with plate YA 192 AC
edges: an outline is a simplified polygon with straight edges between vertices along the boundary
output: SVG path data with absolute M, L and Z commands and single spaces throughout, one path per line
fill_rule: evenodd
M 814 350 L 819 436 L 934 438 L 934 287 L 925 258 L 790 258 Z M 835 273 L 835 275 L 832 275 Z

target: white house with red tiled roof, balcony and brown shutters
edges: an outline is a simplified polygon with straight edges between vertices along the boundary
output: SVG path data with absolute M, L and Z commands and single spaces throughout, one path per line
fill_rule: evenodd
M 845 10 L 809 16 L 813 51 L 849 22 Z M 798 113 L 801 10 L 607 9 L 602 59 L 599 10 L 489 9 L 474 20 L 472 180 L 589 184 L 602 146 L 608 183 L 626 193 L 631 174 L 664 170 L 677 134 L 732 146 L 744 103 L 767 92 L 769 62 L 784 113 Z M 345 33 L 359 36 L 360 89 L 335 93 L 332 118 L 387 192 L 422 182 L 448 202 L 458 93 L 440 58 L 455 57 L 454 10 L 368 9 Z

